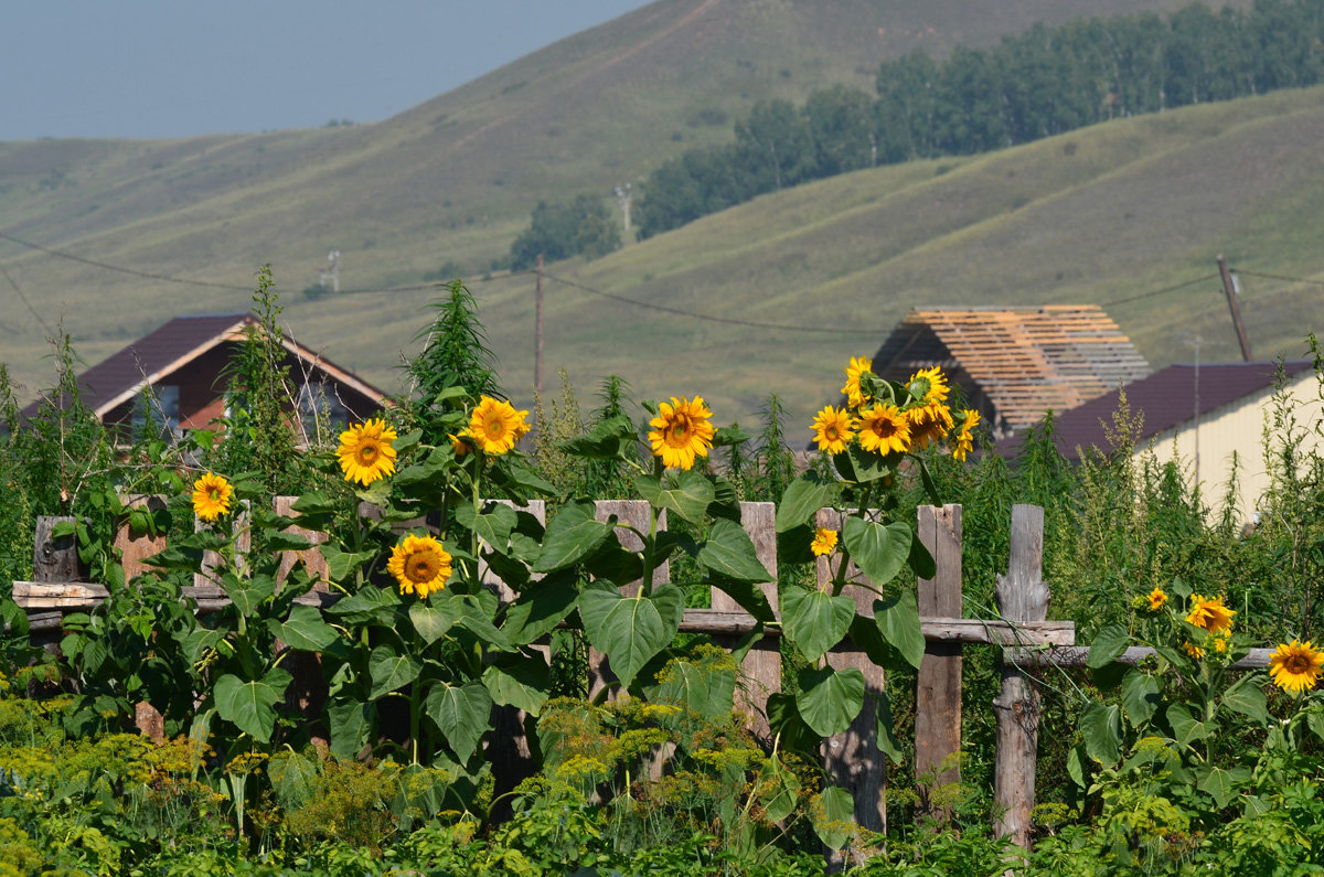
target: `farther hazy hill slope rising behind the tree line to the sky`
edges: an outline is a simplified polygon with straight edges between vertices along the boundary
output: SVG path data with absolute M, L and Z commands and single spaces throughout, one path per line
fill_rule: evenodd
M 661 0 L 376 125 L 184 140 L 4 143 L 0 232 L 90 262 L 213 286 L 117 273 L 0 240 L 0 266 L 8 273 L 0 278 L 0 359 L 21 380 L 45 380 L 41 338 L 61 317 L 83 356 L 95 362 L 176 313 L 242 307 L 256 266 L 271 262 L 299 334 L 389 383 L 391 364 L 426 317 L 420 310 L 426 293 L 305 301 L 299 290 L 315 280 L 330 249 L 342 252 L 342 282 L 354 289 L 414 285 L 446 261 L 478 277 L 507 250 L 538 199 L 606 193 L 639 180 L 686 147 L 730 138 L 731 119 L 760 98 L 800 99 L 841 81 L 869 89 L 880 60 L 915 46 L 941 54 L 956 44 L 993 42 L 1037 20 L 1180 5 L 1185 0 L 1008 0 L 994 7 Z M 902 168 L 887 179 L 914 172 Z M 694 237 L 682 233 L 681 240 Z M 663 249 L 632 246 L 592 270 L 675 246 L 655 244 Z M 871 256 L 843 258 L 867 270 Z M 354 313 L 346 325 L 352 333 L 324 331 L 340 311 Z M 496 315 L 489 321 L 494 338 L 523 331 Z M 592 335 L 591 325 L 587 343 Z

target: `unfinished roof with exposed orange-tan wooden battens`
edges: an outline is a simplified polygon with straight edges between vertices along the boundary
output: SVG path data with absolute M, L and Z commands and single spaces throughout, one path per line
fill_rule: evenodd
M 996 429 L 1012 432 L 1149 375 L 1096 305 L 915 309 L 874 355 L 873 371 L 907 380 L 933 366 Z

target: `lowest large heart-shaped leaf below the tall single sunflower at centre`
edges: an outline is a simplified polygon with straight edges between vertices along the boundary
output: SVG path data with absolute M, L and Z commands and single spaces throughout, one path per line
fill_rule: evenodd
M 612 660 L 612 672 L 629 688 L 649 660 L 671 644 L 685 615 L 685 593 L 659 584 L 651 596 L 626 597 L 610 582 L 596 582 L 580 595 L 588 641 Z

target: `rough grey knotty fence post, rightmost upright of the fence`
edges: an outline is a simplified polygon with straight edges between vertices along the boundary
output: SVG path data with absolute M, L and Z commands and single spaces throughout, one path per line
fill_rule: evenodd
M 1043 509 L 1012 506 L 1012 551 L 1005 576 L 997 578 L 997 601 L 1008 621 L 1043 621 L 1049 588 L 1043 583 Z M 997 772 L 993 778 L 993 833 L 1022 848 L 1030 845 L 1034 809 L 1034 762 L 1039 742 L 1039 696 L 1029 676 L 1004 652 L 997 714 Z

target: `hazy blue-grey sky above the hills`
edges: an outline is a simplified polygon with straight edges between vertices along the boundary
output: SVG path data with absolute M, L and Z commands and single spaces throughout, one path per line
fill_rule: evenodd
M 376 122 L 647 0 L 15 0 L 0 140 Z

